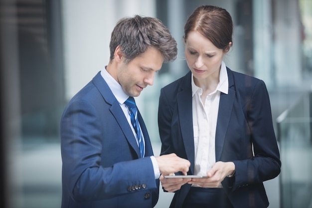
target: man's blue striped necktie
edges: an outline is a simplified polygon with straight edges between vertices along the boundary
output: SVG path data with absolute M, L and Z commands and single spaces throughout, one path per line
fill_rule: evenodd
M 140 129 L 139 120 L 138 120 L 138 108 L 136 105 L 136 101 L 133 97 L 129 97 L 125 101 L 125 104 L 127 105 L 128 109 L 129 109 L 129 114 L 131 117 L 132 126 L 138 135 L 141 157 L 144 158 L 145 148 L 144 148 L 143 136 L 141 134 L 141 129 Z

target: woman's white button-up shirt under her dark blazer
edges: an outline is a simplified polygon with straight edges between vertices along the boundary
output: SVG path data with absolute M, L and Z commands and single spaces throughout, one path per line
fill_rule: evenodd
M 195 85 L 193 75 L 191 84 L 195 148 L 194 175 L 206 176 L 216 162 L 215 134 L 220 94 L 221 92 L 228 94 L 229 83 L 225 63 L 222 61 L 218 86 L 207 95 L 205 104 L 200 98 L 203 90 Z

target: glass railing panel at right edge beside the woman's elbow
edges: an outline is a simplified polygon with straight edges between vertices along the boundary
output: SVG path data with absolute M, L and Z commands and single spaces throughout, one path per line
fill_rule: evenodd
M 281 159 L 281 207 L 310 208 L 312 191 L 312 93 L 304 93 L 277 119 Z

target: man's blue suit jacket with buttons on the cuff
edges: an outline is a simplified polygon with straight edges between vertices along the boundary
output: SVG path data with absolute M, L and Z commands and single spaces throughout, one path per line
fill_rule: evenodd
M 61 119 L 62 208 L 152 208 L 159 194 L 150 138 L 140 150 L 100 72 L 68 103 Z M 140 159 L 139 159 L 140 158 Z

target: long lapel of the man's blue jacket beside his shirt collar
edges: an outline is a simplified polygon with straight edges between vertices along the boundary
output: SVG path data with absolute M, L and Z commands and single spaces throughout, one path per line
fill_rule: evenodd
M 138 158 L 141 158 L 140 149 L 138 147 L 136 138 L 133 135 L 133 132 L 131 130 L 131 127 L 125 117 L 125 114 L 123 110 L 121 109 L 119 102 L 115 98 L 114 94 L 112 93 L 111 89 L 107 85 L 106 81 L 101 76 L 101 73 L 99 72 L 94 78 L 93 83 L 96 86 L 96 88 L 100 91 L 102 94 L 104 100 L 111 105 L 110 111 L 112 112 L 113 116 L 115 117 L 116 121 L 118 122 L 120 128 L 122 129 L 128 143 L 131 145 L 131 147 L 135 150 L 135 152 L 138 155 Z M 146 134 L 144 134 L 144 137 L 146 137 Z

